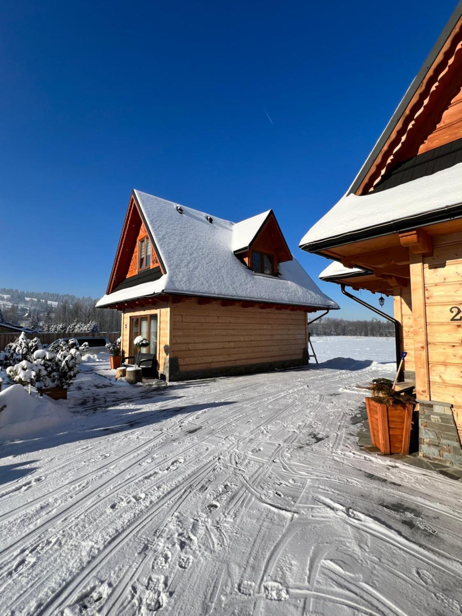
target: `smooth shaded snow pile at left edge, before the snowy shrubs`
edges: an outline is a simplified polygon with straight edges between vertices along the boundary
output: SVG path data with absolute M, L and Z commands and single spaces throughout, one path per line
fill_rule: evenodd
M 12 385 L 0 392 L 1 442 L 35 437 L 70 420 L 70 413 L 59 403 L 46 395 L 29 395 L 22 385 Z

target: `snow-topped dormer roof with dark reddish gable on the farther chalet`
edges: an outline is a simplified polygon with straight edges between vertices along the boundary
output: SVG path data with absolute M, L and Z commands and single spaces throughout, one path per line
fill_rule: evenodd
M 292 254 L 272 209 L 233 226 L 233 252 L 258 250 L 274 254 L 277 261 L 291 261 Z

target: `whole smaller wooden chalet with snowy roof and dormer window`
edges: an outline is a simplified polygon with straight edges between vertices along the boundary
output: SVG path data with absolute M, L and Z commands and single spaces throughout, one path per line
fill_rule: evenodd
M 107 294 L 134 355 L 169 381 L 307 363 L 307 313 L 337 309 L 293 258 L 272 210 L 236 224 L 134 190 Z

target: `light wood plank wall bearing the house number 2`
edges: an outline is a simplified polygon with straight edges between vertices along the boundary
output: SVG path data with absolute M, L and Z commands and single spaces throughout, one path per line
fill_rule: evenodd
M 462 436 L 462 320 L 450 320 L 462 310 L 462 233 L 434 237 L 424 278 L 431 399 L 453 404 Z

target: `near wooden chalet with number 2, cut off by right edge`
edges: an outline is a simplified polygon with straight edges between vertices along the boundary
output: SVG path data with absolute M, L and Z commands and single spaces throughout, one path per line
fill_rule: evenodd
M 301 240 L 394 296 L 423 455 L 462 463 L 462 2 L 346 195 Z

